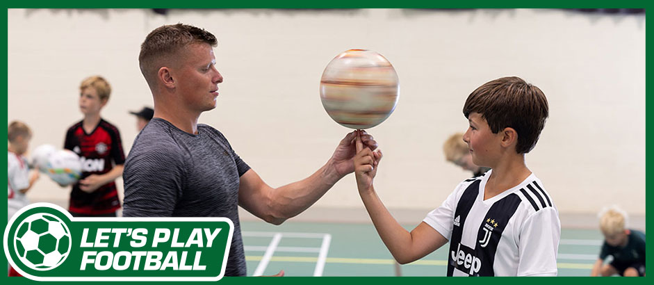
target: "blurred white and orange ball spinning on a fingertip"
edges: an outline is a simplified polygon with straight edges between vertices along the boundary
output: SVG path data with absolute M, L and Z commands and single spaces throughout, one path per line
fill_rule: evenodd
M 332 59 L 320 79 L 320 99 L 338 124 L 370 129 L 388 118 L 400 97 L 400 80 L 381 54 L 350 49 Z

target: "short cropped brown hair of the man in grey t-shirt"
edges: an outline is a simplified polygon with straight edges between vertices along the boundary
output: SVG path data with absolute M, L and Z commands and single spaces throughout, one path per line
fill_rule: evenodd
M 162 59 L 174 58 L 180 49 L 193 43 L 215 47 L 218 40 L 209 31 L 181 23 L 163 25 L 150 32 L 141 44 L 138 55 L 138 65 L 148 85 L 152 87 L 156 73 L 164 66 Z

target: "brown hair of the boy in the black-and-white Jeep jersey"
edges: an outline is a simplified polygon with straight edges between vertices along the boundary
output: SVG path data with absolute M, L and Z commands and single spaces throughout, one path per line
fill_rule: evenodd
M 493 133 L 507 127 L 515 129 L 516 152 L 526 154 L 545 127 L 549 107 L 543 91 L 512 76 L 489 81 L 473 91 L 464 104 L 464 115 L 471 113 L 480 113 Z

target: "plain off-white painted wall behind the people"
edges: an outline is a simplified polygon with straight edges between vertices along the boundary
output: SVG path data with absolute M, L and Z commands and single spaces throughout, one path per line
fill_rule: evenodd
M 101 74 L 113 86 L 103 117 L 129 150 L 136 118 L 152 106 L 138 70 L 145 35 L 182 22 L 214 33 L 224 76 L 218 107 L 200 122 L 220 129 L 271 186 L 302 179 L 348 129 L 318 94 L 341 51 L 372 49 L 395 66 L 395 113 L 370 129 L 384 151 L 376 188 L 391 209 L 439 206 L 468 173 L 445 162 L 442 142 L 464 131 L 461 108 L 482 83 L 516 75 L 548 97 L 550 118 L 528 165 L 562 213 L 619 204 L 645 213 L 645 17 L 565 10 L 8 10 L 8 120 L 31 148 L 63 145 L 81 120 L 78 86 Z M 122 184 L 122 183 L 120 183 Z M 122 187 L 122 185 L 121 185 Z M 66 201 L 43 177 L 33 201 Z M 361 208 L 352 175 L 317 203 Z

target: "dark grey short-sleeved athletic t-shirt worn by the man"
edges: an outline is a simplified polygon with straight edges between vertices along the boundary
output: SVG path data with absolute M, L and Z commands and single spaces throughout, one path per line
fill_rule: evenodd
M 124 217 L 226 217 L 234 237 L 224 276 L 245 276 L 238 184 L 250 170 L 227 138 L 206 124 L 197 135 L 154 118 L 138 134 L 123 172 Z

